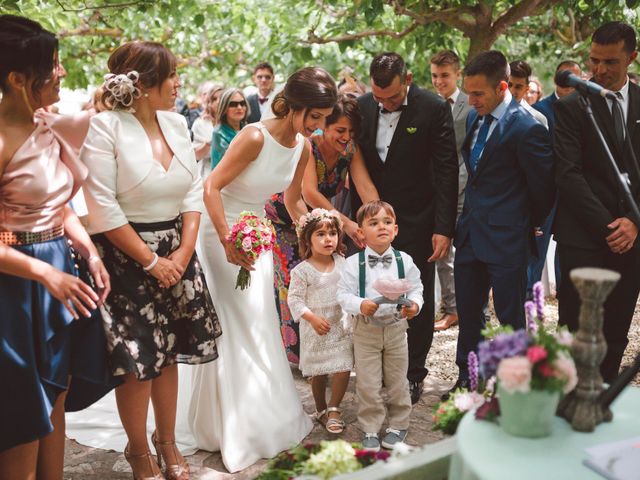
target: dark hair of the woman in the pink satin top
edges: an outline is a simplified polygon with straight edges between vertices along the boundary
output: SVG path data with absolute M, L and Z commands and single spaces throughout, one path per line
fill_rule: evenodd
M 22 73 L 32 79 L 31 93 L 51 77 L 58 51 L 56 36 L 24 17 L 0 15 L 0 90 L 6 91 L 9 73 Z

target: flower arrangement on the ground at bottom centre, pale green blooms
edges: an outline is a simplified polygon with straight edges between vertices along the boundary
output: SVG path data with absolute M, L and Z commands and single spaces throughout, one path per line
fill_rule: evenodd
M 360 447 L 344 440 L 298 445 L 271 459 L 257 480 L 289 480 L 299 475 L 315 475 L 325 480 L 387 461 L 390 456 L 385 451 L 368 452 Z

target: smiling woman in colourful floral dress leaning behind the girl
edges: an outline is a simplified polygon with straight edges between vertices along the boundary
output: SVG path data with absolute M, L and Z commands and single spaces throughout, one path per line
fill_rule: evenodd
M 361 124 L 360 111 L 356 100 L 349 95 L 340 95 L 338 103 L 321 135 L 311 137 L 313 159 L 305 170 L 302 194 L 311 208 L 334 209 L 332 200 L 342 192 L 349 181 L 355 186 L 363 202 L 378 200 L 376 190 L 364 164 L 360 152 L 355 148 Z M 280 315 L 282 340 L 291 363 L 300 358 L 298 345 L 299 327 L 291 318 L 287 305 L 287 291 L 291 269 L 300 263 L 298 239 L 295 226 L 284 206 L 282 193 L 274 195 L 267 203 L 267 217 L 276 230 L 276 245 L 273 250 L 274 288 L 276 306 Z M 363 246 L 358 236 L 358 225 L 341 214 L 345 233 L 358 246 Z

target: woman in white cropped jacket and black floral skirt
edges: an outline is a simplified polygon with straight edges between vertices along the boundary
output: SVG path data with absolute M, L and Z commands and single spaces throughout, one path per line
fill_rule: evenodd
M 218 356 L 220 327 L 194 254 L 202 180 L 184 118 L 166 110 L 180 80 L 159 43 L 132 42 L 109 58 L 103 101 L 81 151 L 89 167 L 88 230 L 114 278 L 103 308 L 120 419 L 135 478 L 189 478 L 175 447 L 177 362 Z M 149 381 L 144 381 L 149 380 Z M 149 452 L 151 399 L 158 463 Z

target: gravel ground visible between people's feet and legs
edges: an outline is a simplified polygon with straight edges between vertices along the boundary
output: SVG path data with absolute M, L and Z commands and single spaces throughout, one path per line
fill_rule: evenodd
M 496 322 L 493 315 L 493 322 Z M 547 321 L 550 324 L 557 322 L 557 302 L 549 299 L 546 308 Z M 414 406 L 411 414 L 411 426 L 407 442 L 412 445 L 425 445 L 441 440 L 444 436 L 440 432 L 432 432 L 431 412 L 438 403 L 441 393 L 448 390 L 455 382 L 458 369 L 455 364 L 456 340 L 458 328 L 453 327 L 444 332 L 435 332 L 433 346 L 427 358 L 429 376 L 425 381 L 424 393 L 420 401 Z M 629 333 L 629 346 L 627 347 L 623 365 L 630 364 L 635 355 L 640 352 L 640 309 L 636 306 L 633 324 Z M 636 376 L 634 384 L 640 386 L 640 375 Z M 314 410 L 311 389 L 297 370 L 294 370 L 294 380 L 305 411 L 311 415 Z M 342 407 L 344 420 L 347 427 L 342 438 L 348 441 L 358 441 L 360 431 L 356 424 L 356 397 L 354 378 L 349 382 L 349 388 L 345 395 Z M 320 425 L 315 424 L 313 431 L 305 441 L 318 442 L 324 439 L 335 438 L 327 433 Z M 267 461 L 260 460 L 247 469 L 235 473 L 228 473 L 222 464 L 219 453 L 199 451 L 195 455 L 187 457 L 191 465 L 191 478 L 194 480 L 245 480 L 255 478 L 262 471 Z M 121 453 L 112 450 L 100 450 L 85 447 L 73 440 L 67 440 L 65 454 L 65 480 L 124 480 L 131 478 L 131 469 Z

